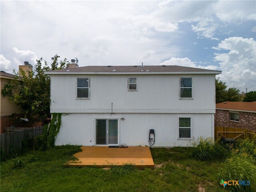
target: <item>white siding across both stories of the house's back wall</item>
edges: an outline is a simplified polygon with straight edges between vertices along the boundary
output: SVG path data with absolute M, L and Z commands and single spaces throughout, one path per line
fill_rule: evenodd
M 65 113 L 56 145 L 95 145 L 95 120 L 117 118 L 119 144 L 189 146 L 200 136 L 214 138 L 214 74 L 51 74 L 51 113 Z M 128 78 L 137 90 L 128 91 Z M 192 99 L 180 99 L 181 77 L 191 77 Z M 90 78 L 90 99 L 77 99 L 77 78 Z M 124 117 L 124 120 L 121 118 Z M 191 117 L 191 138 L 179 139 L 179 117 Z

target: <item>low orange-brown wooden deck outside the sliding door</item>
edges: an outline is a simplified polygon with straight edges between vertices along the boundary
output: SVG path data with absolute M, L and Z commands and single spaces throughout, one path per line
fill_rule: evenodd
M 79 160 L 68 166 L 110 167 L 132 163 L 138 168 L 154 168 L 149 147 L 108 148 L 108 146 L 82 146 L 82 152 L 74 154 Z

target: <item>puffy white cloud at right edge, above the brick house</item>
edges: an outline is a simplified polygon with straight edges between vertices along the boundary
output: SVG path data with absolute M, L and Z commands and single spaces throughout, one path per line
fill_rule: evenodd
M 218 44 L 228 53 L 215 54 L 222 74 L 220 79 L 230 87 L 256 88 L 256 41 L 253 38 L 230 37 Z

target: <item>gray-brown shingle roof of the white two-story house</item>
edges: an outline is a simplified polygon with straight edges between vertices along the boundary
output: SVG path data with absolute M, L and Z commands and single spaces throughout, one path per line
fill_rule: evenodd
M 192 67 L 183 67 L 183 66 L 144 66 L 143 71 L 146 72 L 217 72 L 217 70 L 208 70 Z M 141 66 L 85 66 L 78 68 L 62 69 L 62 70 L 53 70 L 49 72 L 141 72 Z

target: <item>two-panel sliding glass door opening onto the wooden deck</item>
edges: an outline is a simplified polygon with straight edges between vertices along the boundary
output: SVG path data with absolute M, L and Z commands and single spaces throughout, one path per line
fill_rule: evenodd
M 96 119 L 96 145 L 118 145 L 118 119 Z

